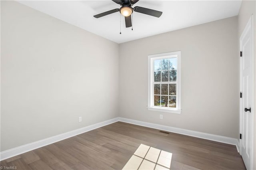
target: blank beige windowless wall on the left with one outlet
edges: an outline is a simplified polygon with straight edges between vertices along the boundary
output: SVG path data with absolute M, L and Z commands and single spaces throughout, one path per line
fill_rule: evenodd
M 1 151 L 118 117 L 118 55 L 117 43 L 1 1 Z

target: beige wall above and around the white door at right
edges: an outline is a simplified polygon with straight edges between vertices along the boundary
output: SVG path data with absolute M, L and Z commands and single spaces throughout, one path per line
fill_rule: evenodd
M 256 1 L 255 0 L 243 0 L 241 4 L 241 8 L 238 14 L 238 39 L 240 38 L 250 16 L 253 15 L 253 35 L 254 35 L 254 55 L 253 55 L 253 66 L 254 66 L 254 106 L 252 108 L 256 108 Z M 254 122 L 254 151 L 253 151 L 253 167 L 252 169 L 256 169 L 256 116 L 255 116 L 255 109 L 254 110 L 254 117 L 253 117 L 253 122 Z

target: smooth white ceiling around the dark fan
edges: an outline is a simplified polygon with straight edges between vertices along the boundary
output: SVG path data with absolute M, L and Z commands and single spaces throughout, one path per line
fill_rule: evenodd
M 78 26 L 116 43 L 128 42 L 238 15 L 241 0 L 140 0 L 135 6 L 162 11 L 160 18 L 133 12 L 133 31 L 125 28 L 124 17 L 116 12 L 102 18 L 93 16 L 120 8 L 112 0 L 18 1 L 50 16 Z

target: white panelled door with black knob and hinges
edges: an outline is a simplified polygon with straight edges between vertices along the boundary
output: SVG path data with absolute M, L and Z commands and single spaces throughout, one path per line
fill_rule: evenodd
M 246 169 L 252 168 L 252 16 L 240 37 L 240 154 Z M 241 96 L 240 96 L 241 97 Z

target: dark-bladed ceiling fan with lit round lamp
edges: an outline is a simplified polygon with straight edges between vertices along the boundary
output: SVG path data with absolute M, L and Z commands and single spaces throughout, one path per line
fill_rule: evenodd
M 119 8 L 119 9 L 116 8 L 114 10 L 106 11 L 106 12 L 97 14 L 94 17 L 100 18 L 102 16 L 106 16 L 108 14 L 112 14 L 114 12 L 119 11 L 122 14 L 122 16 L 125 17 L 125 26 L 126 26 L 126 28 L 128 28 L 128 27 L 132 26 L 131 14 L 133 11 L 140 12 L 142 14 L 146 14 L 146 15 L 150 15 L 150 16 L 155 16 L 158 18 L 162 15 L 162 12 L 160 12 L 160 11 L 143 8 L 140 6 L 135 6 L 134 8 L 132 8 L 132 6 L 139 0 L 112 0 L 112 1 L 115 2 L 116 4 L 119 4 L 121 6 L 121 8 Z

